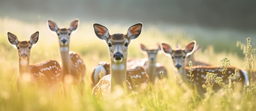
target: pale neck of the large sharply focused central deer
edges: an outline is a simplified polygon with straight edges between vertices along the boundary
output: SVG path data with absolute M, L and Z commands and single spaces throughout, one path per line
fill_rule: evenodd
M 111 91 L 116 85 L 126 87 L 126 62 L 127 59 L 124 59 L 121 63 L 111 61 Z

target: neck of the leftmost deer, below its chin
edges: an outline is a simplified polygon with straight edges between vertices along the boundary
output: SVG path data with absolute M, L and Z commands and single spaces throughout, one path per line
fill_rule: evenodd
M 29 70 L 29 59 L 21 60 L 19 59 L 19 74 L 23 75 L 26 73 L 30 73 Z

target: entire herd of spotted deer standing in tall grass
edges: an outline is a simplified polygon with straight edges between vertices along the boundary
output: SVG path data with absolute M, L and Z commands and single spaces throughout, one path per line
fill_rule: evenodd
M 70 35 L 77 30 L 79 20 L 73 20 L 69 28 L 59 28 L 50 19 L 47 24 L 50 31 L 56 33 L 59 39 L 61 65 L 55 60 L 46 60 L 34 65 L 29 64 L 30 50 L 39 39 L 38 31 L 28 41 L 19 41 L 14 34 L 7 33 L 9 43 L 18 50 L 18 90 L 21 91 L 20 86 L 23 81 L 51 89 L 59 88 L 60 83 L 63 84 L 64 89 L 72 84 L 83 90 L 85 87 L 86 62 L 83 62 L 82 57 L 77 52 L 69 50 Z M 214 73 L 223 80 L 227 79 L 228 76 L 221 73 L 220 67 L 194 60 L 193 53 L 200 48 L 196 47 L 196 41 L 187 43 L 184 48 L 181 48 L 180 45 L 172 48 L 168 43 L 157 44 L 154 48 L 146 48 L 143 44 L 140 44 L 141 52 L 145 54 L 146 58 L 127 60 L 128 47 L 132 40 L 139 37 L 142 26 L 141 23 L 138 23 L 128 28 L 126 34 L 115 33 L 111 35 L 105 26 L 97 23 L 93 24 L 96 36 L 107 45 L 110 56 L 110 63 L 100 62 L 92 69 L 90 86 L 93 95 L 110 93 L 115 90 L 116 86 L 122 87 L 127 93 L 150 90 L 150 85 L 155 85 L 157 80 L 163 79 L 163 77 L 160 77 L 160 72 L 163 72 L 165 78 L 168 77 L 167 68 L 156 62 L 159 51 L 170 57 L 170 60 L 167 61 L 173 62 L 172 65 L 176 70 L 176 75 L 179 75 L 183 82 L 188 79 L 188 62 L 193 63 L 193 83 L 199 94 L 206 92 L 202 85 L 206 81 L 204 78 L 207 72 Z M 227 69 L 228 75 L 232 73 L 235 73 L 235 67 Z M 239 81 L 242 85 L 249 84 L 248 75 L 242 68 L 239 68 L 239 77 L 242 79 Z M 216 85 L 213 89 L 218 91 L 220 87 Z

